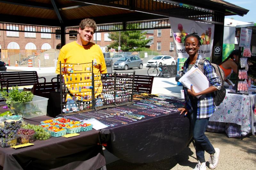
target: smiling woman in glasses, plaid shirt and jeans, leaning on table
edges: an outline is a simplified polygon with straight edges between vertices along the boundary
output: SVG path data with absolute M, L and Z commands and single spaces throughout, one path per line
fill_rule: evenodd
M 183 74 L 186 74 L 191 67 L 197 67 L 199 60 L 202 58 L 202 56 L 198 54 L 201 45 L 200 39 L 197 33 L 188 34 L 185 37 L 184 45 L 189 57 L 184 64 Z M 180 114 L 184 112 L 185 116 L 187 114 L 189 115 L 190 127 L 193 129 L 196 158 L 198 160 L 198 164 L 194 170 L 206 170 L 204 151 L 210 154 L 209 168 L 211 169 L 217 166 L 220 155 L 220 149 L 213 148 L 209 139 L 204 135 L 204 132 L 207 128 L 209 118 L 214 113 L 215 109 L 212 92 L 220 89 L 221 82 L 211 63 L 208 61 L 204 62 L 204 75 L 208 78 L 212 86 L 198 93 L 193 90 L 193 85 L 191 85 L 191 90 L 184 88 L 185 107 L 178 109 L 181 111 Z M 202 96 L 197 99 L 196 96 L 199 95 Z

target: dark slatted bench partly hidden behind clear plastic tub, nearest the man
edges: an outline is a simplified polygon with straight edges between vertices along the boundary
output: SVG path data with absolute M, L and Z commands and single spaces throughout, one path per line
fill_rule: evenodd
M 49 98 L 50 92 L 60 89 L 59 82 L 46 82 L 46 83 L 35 83 L 33 85 L 32 93 L 36 96 Z

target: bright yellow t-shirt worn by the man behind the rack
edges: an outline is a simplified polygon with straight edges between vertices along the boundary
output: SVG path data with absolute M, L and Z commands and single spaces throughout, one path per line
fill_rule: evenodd
M 60 54 L 57 63 L 56 73 L 60 74 L 60 62 L 62 82 L 64 80 L 69 92 L 72 93 L 78 100 L 92 99 L 92 66 L 95 86 L 95 96 L 100 95 L 102 91 L 102 82 L 100 74 L 107 73 L 105 59 L 100 47 L 92 42 L 88 46 L 80 46 L 76 41 L 64 45 L 60 49 Z M 93 62 L 93 65 L 92 65 Z M 86 63 L 86 64 L 82 64 Z M 61 87 L 61 88 L 63 88 Z M 67 98 L 70 98 L 67 95 Z

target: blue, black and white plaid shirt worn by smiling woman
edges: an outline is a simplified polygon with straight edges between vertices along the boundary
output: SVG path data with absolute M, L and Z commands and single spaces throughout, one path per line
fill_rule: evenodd
M 195 66 L 197 67 L 199 60 L 202 58 L 200 54 L 198 54 Z M 185 62 L 185 66 L 183 68 L 183 74 L 186 74 L 188 71 L 188 63 L 189 63 L 189 57 Z M 222 83 L 220 82 L 220 78 L 217 76 L 214 68 L 212 67 L 211 63 L 208 61 L 204 62 L 204 75 L 208 78 L 210 84 L 212 86 L 215 86 L 217 89 L 220 89 Z M 189 111 L 189 113 L 193 112 L 192 104 L 189 98 L 188 89 L 183 87 L 184 93 L 185 93 L 185 99 L 186 99 L 186 107 Z M 200 98 L 198 98 L 197 101 L 197 119 L 203 119 L 210 117 L 215 110 L 214 101 L 212 98 L 212 93 L 204 94 Z

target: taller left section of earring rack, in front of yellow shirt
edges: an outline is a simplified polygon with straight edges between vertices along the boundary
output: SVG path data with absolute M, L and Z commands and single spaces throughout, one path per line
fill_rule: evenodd
M 94 109 L 94 98 L 100 95 L 102 86 L 97 86 L 97 92 L 94 93 L 94 83 L 100 84 L 100 75 L 93 73 L 93 61 L 60 63 L 60 69 L 61 114 Z

